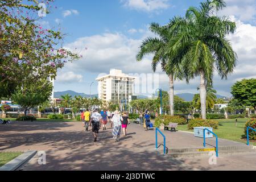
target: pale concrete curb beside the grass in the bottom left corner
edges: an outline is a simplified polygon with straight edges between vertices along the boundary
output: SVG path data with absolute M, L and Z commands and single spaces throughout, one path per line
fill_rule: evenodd
M 22 167 L 30 159 L 32 159 L 37 152 L 38 151 L 35 150 L 24 152 L 22 155 L 19 155 L 9 163 L 0 167 L 0 171 L 16 171 L 18 168 Z

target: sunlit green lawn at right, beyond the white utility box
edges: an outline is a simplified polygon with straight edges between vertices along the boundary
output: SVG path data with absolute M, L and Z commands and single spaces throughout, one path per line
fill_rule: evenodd
M 245 122 L 248 121 L 248 119 L 238 119 L 237 126 L 235 119 L 216 119 L 216 121 L 218 121 L 219 126 L 218 129 L 213 130 L 213 132 L 216 133 L 219 138 L 246 143 L 246 140 L 241 138 L 242 135 L 245 134 Z M 179 125 L 177 130 L 193 132 L 193 130 L 188 130 L 188 125 Z M 250 144 L 256 146 L 256 142 L 250 142 Z

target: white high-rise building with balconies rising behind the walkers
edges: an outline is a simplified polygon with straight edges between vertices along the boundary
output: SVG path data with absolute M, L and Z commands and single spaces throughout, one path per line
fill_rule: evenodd
M 125 75 L 119 69 L 111 69 L 110 74 L 96 78 L 98 81 L 98 98 L 116 104 L 128 103 L 134 94 L 136 77 Z

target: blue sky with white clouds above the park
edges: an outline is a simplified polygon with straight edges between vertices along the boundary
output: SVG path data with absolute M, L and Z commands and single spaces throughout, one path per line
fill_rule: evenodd
M 40 20 L 47 28 L 60 28 L 65 33 L 63 47 L 82 55 L 82 59 L 68 63 L 57 73 L 55 92 L 74 90 L 97 93 L 98 75 L 110 69 L 122 69 L 126 74 L 152 74 L 152 56 L 136 61 L 142 40 L 154 37 L 148 30 L 152 22 L 167 24 L 174 16 L 184 16 L 190 6 L 203 1 L 188 0 L 55 0 L 51 14 Z M 228 35 L 238 55 L 238 64 L 228 80 L 216 74 L 214 89 L 230 97 L 231 86 L 242 78 L 256 78 L 256 0 L 226 0 L 227 7 L 218 15 L 229 16 L 237 23 L 237 30 Z M 168 77 L 160 67 L 159 88 L 168 90 Z M 198 93 L 199 77 L 175 81 L 175 94 Z M 152 94 L 147 92 L 148 95 Z

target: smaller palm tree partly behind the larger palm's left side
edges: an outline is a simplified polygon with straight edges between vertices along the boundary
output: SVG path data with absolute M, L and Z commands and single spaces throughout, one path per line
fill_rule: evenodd
M 152 69 L 155 72 L 157 65 L 160 63 L 162 70 L 167 73 L 169 77 L 170 86 L 170 111 L 174 115 L 174 80 L 181 79 L 181 69 L 178 64 L 168 65 L 172 63 L 175 57 L 167 53 L 169 42 L 174 35 L 174 32 L 168 30 L 166 26 L 160 26 L 158 23 L 151 23 L 150 31 L 158 35 L 158 38 L 147 38 L 142 42 L 140 51 L 137 54 L 137 61 L 141 61 L 147 54 L 154 53 L 152 59 Z M 177 57 L 176 57 L 177 58 Z

